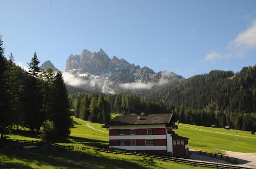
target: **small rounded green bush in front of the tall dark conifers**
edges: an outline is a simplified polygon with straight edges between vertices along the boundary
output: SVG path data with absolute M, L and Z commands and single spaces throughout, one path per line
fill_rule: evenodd
M 52 121 L 46 120 L 40 127 L 40 138 L 43 141 L 53 141 L 57 137 L 57 130 Z

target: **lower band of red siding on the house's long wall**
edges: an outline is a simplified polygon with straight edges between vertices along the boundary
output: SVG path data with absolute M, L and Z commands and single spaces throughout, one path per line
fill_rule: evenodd
M 120 139 L 110 139 L 110 146 L 120 146 Z M 131 139 L 125 139 L 124 146 L 131 146 Z M 136 146 L 145 146 L 145 139 L 136 139 Z M 154 139 L 154 146 L 166 146 L 166 139 Z

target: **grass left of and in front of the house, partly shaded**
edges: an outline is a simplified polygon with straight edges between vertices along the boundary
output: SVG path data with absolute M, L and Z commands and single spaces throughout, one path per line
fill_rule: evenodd
M 109 135 L 90 129 L 86 123 L 74 118 L 75 126 L 71 129 L 70 137 L 60 144 L 73 145 L 74 151 L 58 151 L 49 147 L 20 150 L 0 150 L 0 168 L 203 168 L 193 167 L 174 162 L 154 160 L 149 162 L 141 157 L 131 155 L 115 155 L 93 150 L 79 151 L 83 147 L 107 148 Z M 90 123 L 93 127 L 108 131 L 98 123 Z M 38 139 L 30 131 L 24 130 L 18 134 L 11 134 L 10 138 Z

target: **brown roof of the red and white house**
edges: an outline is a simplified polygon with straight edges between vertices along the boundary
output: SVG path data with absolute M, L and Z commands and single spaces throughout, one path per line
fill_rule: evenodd
M 106 125 L 168 124 L 172 116 L 173 114 L 123 115 L 115 117 Z

